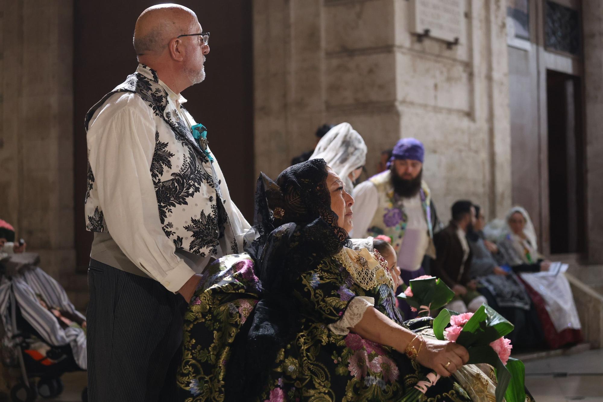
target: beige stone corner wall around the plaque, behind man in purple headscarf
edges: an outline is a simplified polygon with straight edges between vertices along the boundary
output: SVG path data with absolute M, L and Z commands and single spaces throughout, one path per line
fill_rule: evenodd
M 465 0 L 465 36 L 418 42 L 406 0 L 254 0 L 256 171 L 276 176 L 348 121 L 367 170 L 397 139 L 426 145 L 441 218 L 459 198 L 490 217 L 511 204 L 506 2 Z

